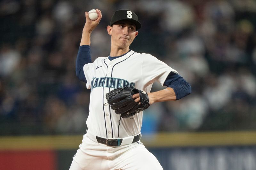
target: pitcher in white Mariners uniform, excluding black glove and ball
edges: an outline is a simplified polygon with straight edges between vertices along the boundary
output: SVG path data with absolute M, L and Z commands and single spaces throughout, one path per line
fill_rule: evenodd
M 106 94 L 123 87 L 139 89 L 147 94 L 149 106 L 179 100 L 191 93 L 191 86 L 176 70 L 156 57 L 129 48 L 141 27 L 138 16 L 131 10 L 115 11 L 107 26 L 111 37 L 110 54 L 92 63 L 90 36 L 102 18 L 100 10 L 96 11 L 99 17 L 95 21 L 85 12 L 86 22 L 76 59 L 76 75 L 86 82 L 91 95 L 87 130 L 70 170 L 163 169 L 140 142 L 143 111 L 124 118 L 110 107 Z M 151 93 L 155 81 L 167 88 Z M 140 93 L 133 94 L 132 99 L 140 104 Z

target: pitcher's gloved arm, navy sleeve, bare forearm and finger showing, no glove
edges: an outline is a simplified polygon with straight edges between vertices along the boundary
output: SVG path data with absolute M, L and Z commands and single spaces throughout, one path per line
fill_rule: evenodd
M 171 72 L 168 75 L 164 85 L 167 86 L 167 88 L 157 92 L 148 93 L 150 105 L 156 102 L 179 100 L 191 93 L 190 84 L 179 74 L 174 72 Z M 135 102 L 140 101 L 138 94 L 134 94 L 132 98 Z

